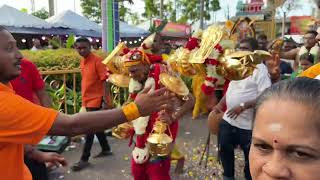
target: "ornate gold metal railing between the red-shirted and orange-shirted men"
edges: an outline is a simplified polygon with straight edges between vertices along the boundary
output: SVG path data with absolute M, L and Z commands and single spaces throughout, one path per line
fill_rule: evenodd
M 73 96 L 73 113 L 77 113 L 77 74 L 80 73 L 80 69 L 72 69 L 72 70 L 53 70 L 53 71 L 41 71 L 40 74 L 43 76 L 44 81 L 46 82 L 47 85 L 49 85 L 49 88 L 51 88 L 53 91 L 57 91 L 60 89 L 62 92 L 62 97 L 58 97 L 57 100 L 59 104 L 58 109 L 59 111 L 63 111 L 66 114 L 70 114 L 71 112 L 68 112 L 68 102 L 67 102 L 67 90 L 72 89 L 72 96 Z M 53 78 L 54 76 L 54 78 Z M 72 77 L 72 83 L 69 83 L 68 86 L 72 87 L 67 87 L 67 81 L 68 77 Z M 62 79 L 61 79 L 62 78 Z M 47 82 L 50 81 L 50 82 Z M 61 95 L 61 94 L 60 94 Z M 52 97 L 51 97 L 52 98 Z M 53 102 L 55 103 L 55 102 Z M 63 107 L 61 107 L 63 105 Z

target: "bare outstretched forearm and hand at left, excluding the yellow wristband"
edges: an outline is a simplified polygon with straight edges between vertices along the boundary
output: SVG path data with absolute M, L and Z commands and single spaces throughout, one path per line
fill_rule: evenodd
M 173 94 L 164 94 L 166 89 L 159 89 L 152 93 L 147 93 L 150 89 L 145 89 L 135 99 L 141 116 L 147 116 L 152 112 L 158 112 L 164 109 L 166 104 L 174 96 Z M 152 104 L 152 106 L 150 106 Z M 134 119 L 136 119 L 135 117 Z M 79 113 L 75 115 L 65 115 L 60 113 L 53 123 L 48 134 L 73 136 L 78 134 L 87 134 L 112 128 L 118 124 L 127 122 L 122 109 L 111 109 L 88 113 Z

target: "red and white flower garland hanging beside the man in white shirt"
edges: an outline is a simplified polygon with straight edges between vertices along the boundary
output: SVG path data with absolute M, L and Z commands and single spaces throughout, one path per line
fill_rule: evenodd
M 219 61 L 217 59 L 221 56 L 222 53 L 223 47 L 220 44 L 217 44 L 210 54 L 210 57 L 205 61 L 207 75 L 204 83 L 201 85 L 201 90 L 207 96 L 214 93 L 216 83 L 219 79 L 221 79 L 217 74 L 216 67 L 219 65 Z

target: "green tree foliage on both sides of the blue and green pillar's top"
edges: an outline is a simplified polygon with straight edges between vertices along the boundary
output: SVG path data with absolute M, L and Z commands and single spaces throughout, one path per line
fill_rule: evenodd
M 129 16 L 130 9 L 124 6 L 124 2 L 133 4 L 133 0 L 118 0 L 119 2 L 119 19 L 124 21 Z M 97 23 L 101 22 L 101 0 L 81 0 L 82 13 L 88 19 Z

